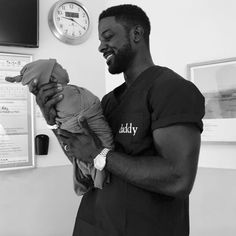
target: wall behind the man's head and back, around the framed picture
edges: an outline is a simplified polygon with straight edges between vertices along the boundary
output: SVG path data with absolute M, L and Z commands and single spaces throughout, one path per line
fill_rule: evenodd
M 108 6 L 121 3 L 146 11 L 154 62 L 185 78 L 187 64 L 236 56 L 235 0 L 109 0 Z M 106 72 L 107 91 L 122 82 L 121 75 Z M 236 235 L 236 143 L 203 143 L 199 166 L 191 194 L 191 236 Z

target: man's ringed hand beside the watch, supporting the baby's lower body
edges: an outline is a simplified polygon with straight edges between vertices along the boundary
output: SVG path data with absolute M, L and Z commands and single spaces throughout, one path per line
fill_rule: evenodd
M 82 130 L 80 133 L 70 133 L 66 130 L 58 129 L 57 135 L 64 143 L 65 150 L 73 153 L 73 156 L 85 163 L 92 163 L 103 149 L 101 141 L 89 128 L 87 121 L 80 120 Z

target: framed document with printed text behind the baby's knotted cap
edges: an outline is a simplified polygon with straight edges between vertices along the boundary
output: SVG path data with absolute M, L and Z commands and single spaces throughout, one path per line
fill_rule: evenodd
M 33 96 L 27 86 L 5 81 L 31 61 L 31 55 L 0 53 L 0 171 L 35 166 Z

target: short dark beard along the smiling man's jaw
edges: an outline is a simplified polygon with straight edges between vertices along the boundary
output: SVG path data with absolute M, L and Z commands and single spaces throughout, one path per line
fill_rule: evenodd
M 133 57 L 134 52 L 132 51 L 131 44 L 127 42 L 115 54 L 113 61 L 108 67 L 109 72 L 111 74 L 119 74 L 125 72 L 132 62 Z

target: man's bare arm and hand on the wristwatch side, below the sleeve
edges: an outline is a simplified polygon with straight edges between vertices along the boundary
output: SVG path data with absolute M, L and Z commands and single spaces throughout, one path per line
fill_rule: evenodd
M 85 123 L 81 123 L 83 126 Z M 84 133 L 58 130 L 74 157 L 92 163 L 103 147 L 84 126 Z M 190 124 L 156 129 L 153 140 L 158 155 L 129 156 L 110 151 L 106 169 L 143 189 L 174 197 L 186 197 L 193 186 L 200 149 L 200 131 Z

